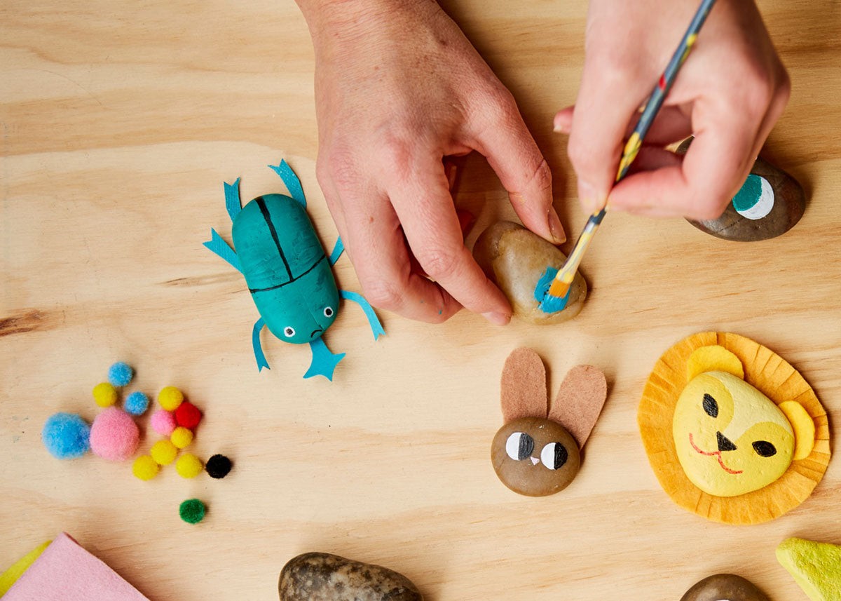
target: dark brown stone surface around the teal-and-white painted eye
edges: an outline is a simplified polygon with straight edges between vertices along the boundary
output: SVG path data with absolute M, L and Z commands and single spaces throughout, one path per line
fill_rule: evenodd
M 679 154 L 686 152 L 689 142 L 685 141 L 681 144 L 677 152 Z M 760 219 L 748 219 L 738 213 L 731 201 L 717 219 L 687 221 L 712 236 L 736 242 L 767 240 L 791 230 L 806 211 L 806 193 L 800 183 L 762 158 L 756 159 L 750 173 L 764 178 L 774 191 L 774 206 L 770 209 L 770 213 Z M 758 181 L 754 178 L 754 184 Z

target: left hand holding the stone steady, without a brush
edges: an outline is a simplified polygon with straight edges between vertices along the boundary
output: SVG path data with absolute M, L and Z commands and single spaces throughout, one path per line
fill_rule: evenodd
M 465 306 L 508 322 L 508 300 L 464 246 L 442 158 L 481 152 L 523 224 L 563 242 L 514 98 L 435 2 L 298 1 L 315 46 L 318 180 L 362 291 L 421 321 Z

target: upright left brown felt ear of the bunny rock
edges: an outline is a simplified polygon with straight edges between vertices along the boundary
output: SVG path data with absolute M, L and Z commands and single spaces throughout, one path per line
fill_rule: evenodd
M 545 418 L 548 409 L 546 368 L 531 348 L 516 348 L 505 359 L 500 403 L 505 423 L 518 418 Z

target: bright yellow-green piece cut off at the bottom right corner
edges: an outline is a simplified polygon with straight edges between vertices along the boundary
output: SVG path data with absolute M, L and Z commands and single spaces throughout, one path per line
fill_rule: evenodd
M 776 555 L 812 601 L 841 599 L 841 546 L 791 538 L 780 543 Z

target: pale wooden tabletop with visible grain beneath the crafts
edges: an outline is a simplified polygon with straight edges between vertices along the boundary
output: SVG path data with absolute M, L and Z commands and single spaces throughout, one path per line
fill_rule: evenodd
M 570 237 L 566 139 L 552 132 L 574 100 L 584 0 L 446 2 L 516 96 L 553 168 Z M 775 560 L 797 535 L 841 543 L 841 470 L 769 524 L 715 524 L 661 490 L 637 432 L 655 360 L 706 330 L 754 338 L 789 360 L 841 423 L 841 3 L 763 0 L 793 82 L 765 156 L 811 196 L 783 237 L 723 242 L 682 220 L 611 215 L 582 269 L 584 311 L 558 327 L 493 327 L 458 314 L 439 326 L 362 312 L 325 337 L 346 359 L 335 381 L 303 380 L 309 350 L 264 333 L 239 274 L 202 242 L 230 239 L 223 181 L 243 195 L 281 191 L 265 166 L 297 170 L 329 247 L 336 228 L 315 180 L 313 54 L 291 0 L 149 0 L 0 6 L 0 565 L 66 530 L 152 601 L 277 598 L 284 562 L 307 550 L 389 566 L 427 601 L 506 598 L 677 601 L 736 572 L 772 601 L 806 598 Z M 480 230 L 512 215 L 480 158 L 458 205 Z M 470 237 L 468 242 L 474 238 Z M 566 246 L 569 250 L 569 243 Z M 341 287 L 359 290 L 347 258 Z M 575 364 L 606 371 L 605 412 L 578 478 L 526 498 L 497 481 L 499 375 L 513 348 L 536 348 L 550 390 Z M 132 390 L 182 388 L 204 411 L 194 452 L 235 461 L 225 480 L 131 476 L 93 455 L 59 461 L 40 430 L 53 412 L 93 420 L 108 365 L 137 370 Z M 145 432 L 140 449 L 156 439 Z M 178 519 L 200 497 L 202 524 Z

